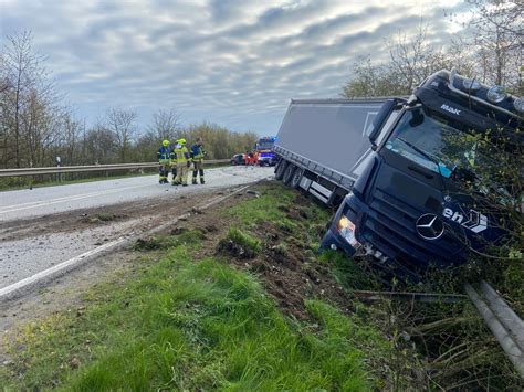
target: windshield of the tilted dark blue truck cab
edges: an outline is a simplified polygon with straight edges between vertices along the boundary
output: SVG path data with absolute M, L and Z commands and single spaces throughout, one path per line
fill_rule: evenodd
M 385 147 L 444 178 L 475 181 L 479 167 L 496 165 L 493 151 L 459 127 L 416 107 L 402 115 Z

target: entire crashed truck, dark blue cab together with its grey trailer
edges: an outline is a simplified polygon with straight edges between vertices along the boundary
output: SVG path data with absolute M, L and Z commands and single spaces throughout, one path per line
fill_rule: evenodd
M 497 171 L 489 147 L 497 140 L 521 157 L 523 115 L 523 98 L 454 68 L 430 75 L 409 97 L 292 100 L 274 147 L 275 178 L 338 205 L 321 248 L 417 277 L 504 236 L 500 210 L 486 200 L 521 201 L 481 180 Z M 522 184 L 520 176 L 506 180 Z

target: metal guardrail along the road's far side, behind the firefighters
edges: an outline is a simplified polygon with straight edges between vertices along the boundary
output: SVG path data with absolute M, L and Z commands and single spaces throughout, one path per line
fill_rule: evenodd
M 230 161 L 229 159 L 210 159 L 210 160 L 206 160 L 205 162 L 208 165 L 209 163 L 214 165 L 214 163 L 227 163 L 229 161 Z M 132 170 L 132 169 L 148 169 L 148 168 L 158 168 L 158 162 L 1 169 L 0 177 L 22 177 L 22 176 L 71 173 L 71 172 L 82 172 L 82 171 L 109 171 L 109 170 Z

